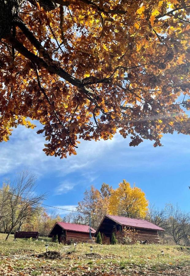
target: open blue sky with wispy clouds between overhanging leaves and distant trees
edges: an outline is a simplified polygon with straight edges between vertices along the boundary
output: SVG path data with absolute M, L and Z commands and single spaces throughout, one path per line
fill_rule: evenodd
M 15 129 L 7 143 L 0 143 L 0 183 L 26 168 L 37 176 L 36 192 L 49 191 L 44 203 L 71 209 L 90 185 L 100 188 L 105 182 L 116 188 L 126 179 L 158 207 L 172 202 L 190 210 L 190 136 L 167 134 L 163 147 L 144 141 L 134 148 L 116 134 L 108 141 L 81 141 L 78 154 L 67 159 L 46 156 L 44 143 L 35 129 Z

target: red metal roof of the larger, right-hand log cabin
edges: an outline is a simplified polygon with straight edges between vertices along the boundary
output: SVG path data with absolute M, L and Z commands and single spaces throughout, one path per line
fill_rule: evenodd
M 147 220 L 134 219 L 134 218 L 130 218 L 130 217 L 112 216 L 112 215 L 106 215 L 106 217 L 108 217 L 112 220 L 115 220 L 119 224 L 122 224 L 125 226 L 146 228 L 146 229 L 152 229 L 152 230 L 164 230 L 163 228 L 161 228 Z

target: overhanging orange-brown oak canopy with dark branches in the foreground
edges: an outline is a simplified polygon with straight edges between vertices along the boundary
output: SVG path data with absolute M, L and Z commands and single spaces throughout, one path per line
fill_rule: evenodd
M 0 0 L 0 140 L 29 120 L 45 153 L 79 139 L 190 133 L 189 0 Z

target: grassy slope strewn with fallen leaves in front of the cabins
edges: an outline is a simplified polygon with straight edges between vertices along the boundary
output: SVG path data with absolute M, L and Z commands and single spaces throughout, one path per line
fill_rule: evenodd
M 93 245 L 74 246 L 52 243 L 50 239 L 38 241 L 17 239 L 5 241 L 0 234 L 0 275 L 190 275 L 190 248 L 163 245 Z M 44 240 L 44 241 L 42 241 Z M 37 258 L 48 250 L 59 251 L 62 259 Z M 164 251 L 162 256 L 161 251 Z M 130 257 L 129 257 L 130 254 Z

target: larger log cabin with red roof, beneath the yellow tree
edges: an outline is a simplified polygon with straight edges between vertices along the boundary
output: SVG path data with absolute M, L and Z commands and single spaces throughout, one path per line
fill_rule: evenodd
M 131 243 L 146 240 L 148 243 L 160 243 L 158 231 L 164 229 L 147 220 L 105 215 L 94 237 L 100 232 L 103 244 L 111 243 L 112 233 L 119 243 L 124 243 L 127 236 Z

